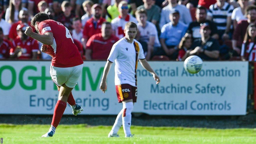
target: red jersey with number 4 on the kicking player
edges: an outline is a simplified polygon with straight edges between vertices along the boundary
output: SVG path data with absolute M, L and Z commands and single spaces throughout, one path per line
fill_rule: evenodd
M 55 67 L 73 67 L 83 64 L 81 54 L 77 46 L 74 44 L 71 34 L 62 23 L 55 20 L 44 20 L 38 24 L 39 33 L 41 35 L 51 32 L 54 40 L 50 49 L 55 55 L 51 64 Z

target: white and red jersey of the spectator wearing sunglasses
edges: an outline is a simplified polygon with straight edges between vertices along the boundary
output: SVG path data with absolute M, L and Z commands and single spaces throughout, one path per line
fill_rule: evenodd
M 136 18 L 131 16 L 130 14 L 128 14 L 125 19 L 118 16 L 111 21 L 115 36 L 120 39 L 124 37 L 124 26 L 128 22 L 134 22 L 135 24 L 138 23 Z

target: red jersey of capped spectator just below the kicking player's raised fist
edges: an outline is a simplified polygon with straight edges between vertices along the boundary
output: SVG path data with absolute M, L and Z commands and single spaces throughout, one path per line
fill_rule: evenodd
M 17 46 L 23 48 L 22 55 L 18 59 L 32 58 L 32 52 L 38 52 L 38 42 L 34 38 L 28 37 L 26 41 L 22 41 L 20 37 L 13 40 L 10 54 L 15 52 Z

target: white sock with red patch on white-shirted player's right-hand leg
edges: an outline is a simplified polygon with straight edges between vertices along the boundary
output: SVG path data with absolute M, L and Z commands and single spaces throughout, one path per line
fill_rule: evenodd
M 133 110 L 133 102 L 123 102 L 123 129 L 125 136 L 131 135 L 131 122 L 132 122 L 132 110 Z

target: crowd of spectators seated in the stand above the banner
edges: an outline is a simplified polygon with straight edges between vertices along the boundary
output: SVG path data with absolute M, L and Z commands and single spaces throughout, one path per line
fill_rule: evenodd
M 24 34 L 45 12 L 70 31 L 84 60 L 106 60 L 134 22 L 147 60 L 256 61 L 256 0 L 3 0 L 0 59 L 51 59 Z M 33 28 L 36 32 L 35 28 Z

